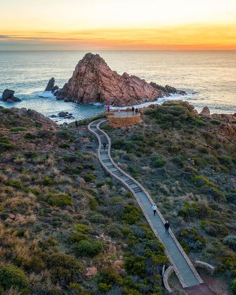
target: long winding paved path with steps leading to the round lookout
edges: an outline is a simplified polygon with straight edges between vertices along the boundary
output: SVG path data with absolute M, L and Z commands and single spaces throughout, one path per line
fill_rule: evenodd
M 166 255 L 168 256 L 182 286 L 186 288 L 202 284 L 202 279 L 176 240 L 172 231 L 170 230 L 169 237 L 165 234 L 163 225 L 165 220 L 159 210 L 157 210 L 158 214 L 155 216 L 153 215 L 152 204 L 154 202 L 152 201 L 149 193 L 141 186 L 141 184 L 120 169 L 113 161 L 110 155 L 111 140 L 109 136 L 99 128 L 100 124 L 105 121 L 107 120 L 100 119 L 92 122 L 88 126 L 89 131 L 93 133 L 99 141 L 98 157 L 101 164 L 109 174 L 115 177 L 121 184 L 126 186 L 135 196 L 154 234 L 164 244 Z M 107 148 L 105 150 L 103 148 L 103 143 L 107 143 Z

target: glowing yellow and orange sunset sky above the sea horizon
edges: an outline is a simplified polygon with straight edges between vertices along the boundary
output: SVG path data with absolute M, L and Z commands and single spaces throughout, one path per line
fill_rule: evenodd
M 236 50 L 236 0 L 0 0 L 0 50 Z

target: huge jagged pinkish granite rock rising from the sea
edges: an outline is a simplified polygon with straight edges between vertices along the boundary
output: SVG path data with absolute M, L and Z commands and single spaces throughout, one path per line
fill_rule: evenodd
M 119 75 L 98 54 L 87 53 L 77 64 L 69 81 L 55 95 L 58 100 L 75 103 L 131 106 L 155 101 L 159 97 L 170 96 L 170 93 L 186 94 L 170 86 L 149 84 L 127 73 Z

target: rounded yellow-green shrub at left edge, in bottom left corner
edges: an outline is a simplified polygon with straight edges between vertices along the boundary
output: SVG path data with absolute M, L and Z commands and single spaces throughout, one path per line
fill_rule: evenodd
M 0 269 L 0 286 L 4 290 L 10 287 L 23 289 L 26 286 L 25 273 L 17 266 L 8 264 Z

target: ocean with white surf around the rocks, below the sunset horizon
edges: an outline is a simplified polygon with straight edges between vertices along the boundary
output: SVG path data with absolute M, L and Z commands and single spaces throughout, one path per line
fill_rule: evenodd
M 56 101 L 44 92 L 48 80 L 63 85 L 72 76 L 78 61 L 88 51 L 0 51 L 0 97 L 4 89 L 15 90 L 21 102 L 6 103 L 5 108 L 29 108 L 45 116 L 60 111 L 84 119 L 104 112 L 101 104 L 75 104 Z M 166 84 L 186 91 L 158 99 L 183 99 L 200 111 L 208 106 L 211 113 L 236 113 L 236 51 L 91 51 L 105 59 L 112 70 L 127 72 L 147 82 Z M 147 105 L 147 104 L 144 104 Z M 58 118 L 53 120 L 58 121 Z M 70 120 L 59 119 L 58 123 Z

